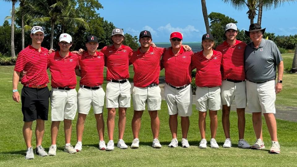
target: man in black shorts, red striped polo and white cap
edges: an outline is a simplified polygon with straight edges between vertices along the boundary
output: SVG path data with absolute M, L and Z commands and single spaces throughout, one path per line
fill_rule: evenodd
M 32 122 L 36 120 L 36 149 L 40 156 L 47 156 L 41 146 L 44 134 L 44 121 L 48 119 L 49 111 L 49 77 L 46 72 L 48 49 L 41 47 L 44 38 L 43 28 L 34 26 L 30 37 L 32 44 L 20 51 L 13 72 L 12 98 L 19 102 L 22 99 L 22 112 L 24 115 L 23 135 L 27 146 L 25 159 L 34 159 L 32 141 Z M 27 74 L 21 79 L 24 85 L 22 96 L 18 92 L 19 75 L 21 71 Z

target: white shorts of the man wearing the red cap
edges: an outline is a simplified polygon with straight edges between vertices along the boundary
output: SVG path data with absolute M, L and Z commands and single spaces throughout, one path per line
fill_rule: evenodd
M 181 117 L 192 115 L 192 87 L 189 84 L 186 88 L 177 90 L 167 83 L 164 88 L 165 99 L 168 106 L 168 114 L 179 114 Z

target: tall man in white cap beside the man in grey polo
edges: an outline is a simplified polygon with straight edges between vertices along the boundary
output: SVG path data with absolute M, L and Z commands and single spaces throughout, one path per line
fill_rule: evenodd
M 224 148 L 232 146 L 230 139 L 230 106 L 235 100 L 236 112 L 238 116 L 238 147 L 250 148 L 251 146 L 243 139 L 245 129 L 245 108 L 247 106 L 247 94 L 245 87 L 245 72 L 244 72 L 244 49 L 247 44 L 236 40 L 237 26 L 234 23 L 229 23 L 225 28 L 227 40 L 221 45 L 218 45 L 216 50 L 222 52 L 222 124 L 225 133 Z

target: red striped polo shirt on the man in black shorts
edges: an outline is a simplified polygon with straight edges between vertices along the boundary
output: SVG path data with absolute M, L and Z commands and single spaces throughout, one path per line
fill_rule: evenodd
M 41 51 L 31 45 L 19 52 L 15 63 L 15 71 L 26 71 L 21 83 L 23 85 L 32 84 L 35 86 L 49 83 L 46 65 L 49 50 L 41 47 Z

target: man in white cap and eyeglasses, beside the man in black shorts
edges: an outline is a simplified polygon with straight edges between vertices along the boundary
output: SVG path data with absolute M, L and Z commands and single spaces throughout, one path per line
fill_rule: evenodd
M 78 55 L 69 52 L 72 46 L 72 37 L 63 33 L 59 37 L 60 49 L 49 54 L 48 64 L 51 74 L 50 105 L 51 105 L 51 138 L 49 155 L 56 155 L 56 141 L 60 122 L 64 122 L 65 147 L 64 152 L 76 153 L 70 144 L 72 120 L 77 109 L 77 92 L 75 70 L 79 69 Z

